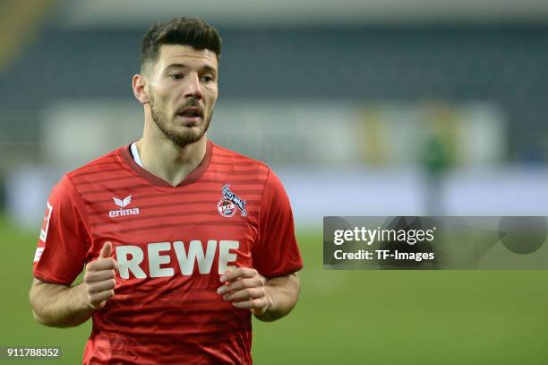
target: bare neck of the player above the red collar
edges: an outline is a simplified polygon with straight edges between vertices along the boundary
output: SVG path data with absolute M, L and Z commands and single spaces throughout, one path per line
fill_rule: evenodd
M 136 145 L 144 169 L 175 187 L 200 165 L 206 153 L 207 136 L 181 147 L 163 135 L 154 122 L 145 121 L 142 138 Z

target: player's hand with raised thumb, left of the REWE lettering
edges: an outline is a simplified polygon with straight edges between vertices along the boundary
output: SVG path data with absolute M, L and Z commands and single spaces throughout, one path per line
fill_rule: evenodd
M 107 241 L 101 248 L 98 259 L 86 265 L 84 291 L 87 304 L 91 309 L 102 309 L 107 304 L 107 300 L 114 298 L 118 263 L 111 255 L 112 243 Z

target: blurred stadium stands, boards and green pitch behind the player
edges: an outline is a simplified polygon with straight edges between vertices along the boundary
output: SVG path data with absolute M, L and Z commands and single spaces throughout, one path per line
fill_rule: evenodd
M 224 39 L 214 142 L 269 163 L 305 268 L 295 312 L 254 323 L 258 364 L 548 363 L 545 272 L 330 272 L 323 215 L 548 215 L 543 0 L 0 1 L 0 345 L 35 324 L 41 214 L 64 171 L 141 134 L 131 77 L 152 22 Z

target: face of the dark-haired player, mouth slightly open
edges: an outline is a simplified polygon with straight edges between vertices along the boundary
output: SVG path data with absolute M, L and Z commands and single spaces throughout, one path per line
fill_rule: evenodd
M 218 95 L 218 60 L 209 49 L 163 45 L 145 71 L 152 119 L 181 147 L 201 139 Z

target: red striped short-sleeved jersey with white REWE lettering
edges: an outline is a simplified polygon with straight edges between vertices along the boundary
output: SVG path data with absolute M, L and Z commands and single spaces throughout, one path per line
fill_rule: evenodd
M 83 363 L 251 364 L 251 313 L 217 294 L 220 274 L 301 269 L 293 215 L 263 163 L 208 142 L 178 186 L 129 146 L 65 174 L 47 202 L 34 276 L 69 285 L 113 243 L 115 297 L 93 314 Z

